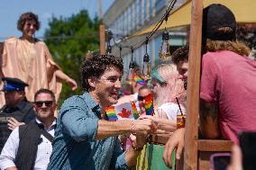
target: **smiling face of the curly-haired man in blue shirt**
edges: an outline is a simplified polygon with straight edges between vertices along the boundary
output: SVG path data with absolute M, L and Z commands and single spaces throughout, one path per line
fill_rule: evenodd
M 91 80 L 94 88 L 93 97 L 101 106 L 109 106 L 117 103 L 118 92 L 121 89 L 122 74 L 115 67 L 107 68 L 102 76 L 96 80 Z

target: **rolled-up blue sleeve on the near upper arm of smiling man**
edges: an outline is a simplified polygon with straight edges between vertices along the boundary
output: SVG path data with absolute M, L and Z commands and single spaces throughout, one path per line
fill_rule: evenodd
M 98 119 L 94 119 L 90 114 L 94 114 L 80 98 L 70 98 L 63 103 L 60 109 L 60 121 L 65 133 L 76 141 L 93 141 L 96 139 Z

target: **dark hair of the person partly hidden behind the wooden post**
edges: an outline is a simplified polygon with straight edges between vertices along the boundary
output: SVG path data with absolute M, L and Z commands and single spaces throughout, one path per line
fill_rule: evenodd
M 189 50 L 189 45 L 188 43 L 185 46 L 182 46 L 178 49 L 176 49 L 173 53 L 172 53 L 172 62 L 176 65 L 178 65 L 178 63 L 180 61 L 184 62 L 188 60 L 188 50 Z

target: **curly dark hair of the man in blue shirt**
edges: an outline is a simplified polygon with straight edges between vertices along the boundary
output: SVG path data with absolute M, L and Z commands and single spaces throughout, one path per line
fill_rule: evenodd
M 109 67 L 117 68 L 123 74 L 122 58 L 114 57 L 113 55 L 93 55 L 91 58 L 86 58 L 81 67 L 82 87 L 88 92 L 91 86 L 88 79 L 91 77 L 99 78 L 105 73 Z

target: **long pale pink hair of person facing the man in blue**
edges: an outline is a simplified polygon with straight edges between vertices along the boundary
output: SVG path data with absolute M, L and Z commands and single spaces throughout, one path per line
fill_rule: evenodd
M 155 103 L 161 105 L 163 103 L 176 103 L 176 97 L 178 101 L 183 103 L 186 99 L 186 91 L 184 89 L 184 83 L 181 79 L 178 79 L 177 67 L 174 64 L 164 64 L 157 68 L 160 76 L 165 83 L 161 85 L 159 94 Z

